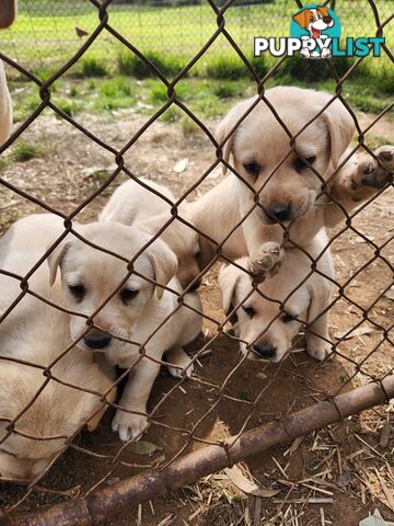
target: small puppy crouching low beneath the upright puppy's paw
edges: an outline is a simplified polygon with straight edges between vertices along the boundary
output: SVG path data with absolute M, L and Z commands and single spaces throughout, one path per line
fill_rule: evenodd
M 306 251 L 313 259 L 317 259 L 326 243 L 327 237 L 323 229 Z M 324 359 L 332 352 L 326 311 L 329 306 L 331 278 L 334 277 L 329 251 L 326 250 L 316 264 L 317 271 L 327 277 L 312 273 L 311 259 L 299 249 L 287 249 L 285 258 L 275 243 L 265 243 L 262 251 L 266 254 L 267 277 L 279 260 L 282 263 L 279 272 L 260 284 L 258 290 L 251 294 L 253 287 L 247 274 L 246 258 L 236 262 L 245 272 L 228 265 L 219 273 L 223 309 L 227 315 L 233 312 L 231 319 L 236 320 L 236 335 L 242 340 L 241 351 L 250 358 L 279 362 L 291 348 L 291 342 L 300 328 L 306 325 L 308 353 L 318 361 Z M 247 344 L 251 345 L 251 351 Z

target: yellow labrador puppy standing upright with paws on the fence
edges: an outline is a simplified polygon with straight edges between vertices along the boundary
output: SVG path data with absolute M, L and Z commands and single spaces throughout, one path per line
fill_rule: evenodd
M 288 244 L 306 247 L 323 226 L 333 227 L 346 217 L 343 208 L 350 211 L 390 181 L 394 169 L 393 147 L 376 150 L 380 165 L 370 156 L 355 156 L 327 186 L 343 208 L 327 195 L 318 197 L 323 182 L 348 152 L 355 132 L 351 115 L 340 101 L 329 103 L 331 94 L 313 90 L 278 87 L 267 90 L 266 99 L 282 125 L 267 103 L 248 99 L 236 104 L 218 128 L 218 141 L 227 139 L 223 160 L 230 163 L 232 157 L 230 165 L 243 181 L 231 172 L 189 205 L 196 227 L 220 242 L 258 201 L 223 247 L 228 258 L 248 255 L 257 277 L 264 242 L 281 243 L 283 229 L 290 225 Z M 297 135 L 297 152 L 290 147 L 289 134 Z M 205 266 L 215 245 L 201 237 L 200 247 Z

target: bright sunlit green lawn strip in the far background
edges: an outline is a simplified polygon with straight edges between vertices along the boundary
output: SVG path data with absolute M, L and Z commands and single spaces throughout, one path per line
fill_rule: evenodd
M 373 36 L 374 21 L 368 0 L 343 0 L 333 7 L 341 20 L 344 37 Z M 381 18 L 386 20 L 392 15 L 393 1 L 381 0 L 378 8 Z M 1 46 L 3 53 L 31 67 L 61 62 L 69 52 L 76 53 L 81 39 L 95 28 L 95 13 L 86 1 L 21 1 L 19 12 L 13 27 L 1 35 Z M 113 27 L 143 53 L 183 57 L 195 54 L 216 26 L 205 0 L 116 2 L 107 13 Z M 286 0 L 235 1 L 228 11 L 225 24 L 242 52 L 251 55 L 254 36 L 289 36 L 293 14 L 292 2 Z M 391 25 L 385 27 L 385 36 L 387 41 L 393 36 Z M 225 38 L 219 37 L 216 48 L 233 55 Z M 89 54 L 116 62 L 121 49 L 118 41 L 105 32 L 97 35 Z M 384 64 L 382 60 L 380 67 Z

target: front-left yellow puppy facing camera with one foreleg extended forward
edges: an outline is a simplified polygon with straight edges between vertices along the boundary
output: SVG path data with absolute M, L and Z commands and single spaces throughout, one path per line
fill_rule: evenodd
M 89 243 L 111 253 L 70 233 L 48 258 L 49 279 L 56 286 L 60 268 L 63 305 L 82 315 L 72 316 L 70 322 L 71 338 L 80 339 L 78 347 L 100 351 L 119 367 L 132 367 L 120 400 L 125 411 L 118 410 L 113 421 L 113 428 L 127 441 L 148 424 L 147 402 L 163 354 L 174 376 L 192 375 L 193 366 L 183 346 L 200 332 L 201 316 L 192 310 L 201 310 L 200 300 L 192 291 L 184 296 L 185 306 L 177 301 L 183 291 L 175 277 L 177 260 L 160 239 L 143 250 L 151 236 L 134 227 L 94 222 L 76 228 Z M 24 237 L 26 245 L 49 247 L 63 227 L 60 218 L 43 214 L 21 219 L 12 230 Z M 130 274 L 128 262 L 137 254 Z M 90 331 L 86 317 L 94 321 Z

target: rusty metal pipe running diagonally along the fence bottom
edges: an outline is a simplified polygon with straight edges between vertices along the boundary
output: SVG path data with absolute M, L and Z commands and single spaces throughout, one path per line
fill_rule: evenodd
M 227 455 L 223 446 L 206 446 L 175 460 L 165 470 L 147 470 L 108 488 L 94 491 L 86 499 L 67 501 L 40 511 L 14 513 L 0 519 L 2 526 L 96 526 L 148 499 L 190 484 L 209 473 L 229 467 L 252 455 L 291 442 L 341 418 L 359 413 L 394 397 L 394 375 L 382 382 L 369 384 L 320 402 L 282 421 L 269 422 L 243 433 Z M 224 444 L 231 445 L 234 437 Z

